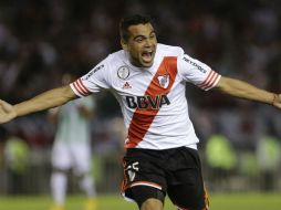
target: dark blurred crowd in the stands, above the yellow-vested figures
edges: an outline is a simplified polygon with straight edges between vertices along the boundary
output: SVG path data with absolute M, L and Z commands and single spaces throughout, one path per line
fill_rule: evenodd
M 0 2 L 0 98 L 17 103 L 58 86 L 65 72 L 77 76 L 121 49 L 118 21 L 125 13 L 155 18 L 158 42 L 180 45 L 226 76 L 281 91 L 281 3 L 278 0 L 17 0 Z M 188 85 L 189 112 L 204 147 L 212 134 L 238 150 L 256 151 L 258 143 L 281 143 L 281 113 Z M 121 147 L 116 139 L 117 103 L 98 94 L 93 120 L 97 150 Z M 97 124 L 97 122 L 102 122 Z M 53 130 L 44 113 L 4 125 L 31 148 L 50 147 Z M 107 144 L 104 144 L 104 143 Z M 98 144 L 101 143 L 101 144 Z M 106 145 L 106 146 L 105 146 Z

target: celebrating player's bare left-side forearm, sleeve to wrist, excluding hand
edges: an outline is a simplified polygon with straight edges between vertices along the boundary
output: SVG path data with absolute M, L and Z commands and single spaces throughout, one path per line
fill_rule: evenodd
M 15 104 L 13 107 L 18 117 L 55 106 L 61 106 L 75 97 L 75 94 L 67 85 L 44 92 L 31 99 Z

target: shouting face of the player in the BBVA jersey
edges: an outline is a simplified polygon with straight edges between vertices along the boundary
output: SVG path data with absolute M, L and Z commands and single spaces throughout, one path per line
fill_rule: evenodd
M 153 25 L 150 23 L 131 25 L 128 32 L 128 41 L 123 41 L 122 45 L 129 53 L 132 64 L 139 67 L 150 67 L 157 44 Z

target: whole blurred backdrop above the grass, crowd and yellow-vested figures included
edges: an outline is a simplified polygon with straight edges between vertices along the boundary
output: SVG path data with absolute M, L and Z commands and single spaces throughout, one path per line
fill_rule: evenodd
M 180 45 L 225 76 L 281 92 L 279 0 L 0 1 L 0 98 L 19 103 L 87 73 L 119 46 L 118 21 L 150 14 L 158 42 Z M 107 92 L 92 117 L 93 176 L 98 193 L 117 193 L 124 124 Z M 210 191 L 281 191 L 281 112 L 187 85 Z M 0 127 L 0 196 L 48 195 L 54 127 L 46 113 Z M 70 179 L 70 192 L 77 185 Z

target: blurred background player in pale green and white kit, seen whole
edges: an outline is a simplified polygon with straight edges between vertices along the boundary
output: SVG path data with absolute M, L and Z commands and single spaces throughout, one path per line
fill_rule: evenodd
M 62 83 L 73 81 L 71 74 L 64 74 Z M 96 210 L 96 190 L 91 170 L 91 130 L 90 118 L 94 111 L 92 97 L 83 97 L 50 109 L 50 119 L 56 125 L 52 149 L 53 172 L 51 192 L 54 206 L 51 210 L 64 210 L 67 187 L 67 172 L 73 169 L 80 179 L 80 187 L 87 200 L 85 210 Z

